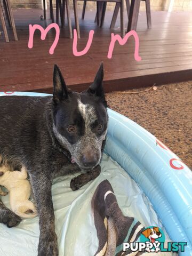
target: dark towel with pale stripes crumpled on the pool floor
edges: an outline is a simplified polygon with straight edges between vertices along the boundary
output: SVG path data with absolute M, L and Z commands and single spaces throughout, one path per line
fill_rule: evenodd
M 92 210 L 99 239 L 94 256 L 134 256 L 138 253 L 123 252 L 123 242 L 140 242 L 144 227 L 135 218 L 123 215 L 108 180 L 103 180 L 95 190 Z

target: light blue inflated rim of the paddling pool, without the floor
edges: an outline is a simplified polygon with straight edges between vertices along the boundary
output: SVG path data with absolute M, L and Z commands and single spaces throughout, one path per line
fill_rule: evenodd
M 47 96 L 33 92 L 0 92 L 1 95 Z M 144 191 L 167 234 L 187 242 L 192 256 L 192 173 L 161 141 L 129 118 L 108 109 L 105 153 L 131 175 Z

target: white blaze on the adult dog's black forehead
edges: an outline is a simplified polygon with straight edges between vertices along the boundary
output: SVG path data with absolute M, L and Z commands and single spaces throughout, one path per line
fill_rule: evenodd
M 78 100 L 78 109 L 82 114 L 85 126 L 94 123 L 94 121 L 97 119 L 97 115 L 93 106 L 84 104 L 81 102 L 81 100 Z

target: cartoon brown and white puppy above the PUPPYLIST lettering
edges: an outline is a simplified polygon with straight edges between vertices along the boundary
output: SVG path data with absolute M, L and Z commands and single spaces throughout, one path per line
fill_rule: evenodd
M 158 247 L 158 243 L 162 242 L 162 238 L 164 240 L 164 234 L 162 230 L 159 230 L 158 227 L 148 227 L 141 233 L 145 237 L 146 244 L 154 244 L 157 245 L 151 249 L 149 247 L 146 248 L 147 252 L 158 252 L 160 248 Z M 144 241 L 143 241 L 144 242 Z M 164 242 L 164 241 L 163 241 Z

